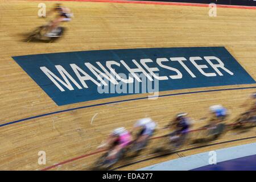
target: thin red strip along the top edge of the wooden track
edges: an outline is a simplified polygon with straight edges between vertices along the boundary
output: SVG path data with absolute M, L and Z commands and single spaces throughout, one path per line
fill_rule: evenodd
M 31 1 L 31 0 L 28 0 Z M 36 1 L 36 0 L 32 0 Z M 56 1 L 56 0 L 41 0 L 41 1 Z M 202 3 L 180 3 L 180 2 L 155 2 L 155 1 L 129 1 L 129 0 L 57 0 L 57 1 L 76 1 L 76 2 L 108 2 L 108 3 L 132 3 L 146 5 L 172 5 L 172 6 L 197 6 L 208 7 L 208 4 Z M 234 9 L 254 9 L 256 6 L 237 6 L 237 5 L 216 5 L 217 7 L 234 8 Z

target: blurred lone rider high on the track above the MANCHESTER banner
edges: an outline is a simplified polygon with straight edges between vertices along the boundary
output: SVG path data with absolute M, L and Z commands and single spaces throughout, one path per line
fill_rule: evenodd
M 52 20 L 47 36 L 55 36 L 58 33 L 57 27 L 59 27 L 59 24 L 61 22 L 71 21 L 71 18 L 73 16 L 71 10 L 69 10 L 67 7 L 62 6 L 60 3 L 56 3 L 55 7 L 48 12 L 47 16 L 51 15 L 52 13 L 57 13 L 57 16 L 55 19 Z

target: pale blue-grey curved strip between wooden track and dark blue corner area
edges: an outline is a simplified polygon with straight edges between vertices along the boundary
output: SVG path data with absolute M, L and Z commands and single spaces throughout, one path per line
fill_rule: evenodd
M 256 143 L 228 147 L 216 150 L 217 163 L 242 158 L 256 154 Z M 169 160 L 152 166 L 138 169 L 138 171 L 187 171 L 209 165 L 209 151 L 201 154 L 186 156 L 184 158 Z M 214 164 L 212 164 L 214 165 Z

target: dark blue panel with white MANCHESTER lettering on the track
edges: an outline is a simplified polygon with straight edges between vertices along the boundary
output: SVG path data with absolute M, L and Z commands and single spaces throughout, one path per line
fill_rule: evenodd
M 114 49 L 13 59 L 59 106 L 136 93 L 255 83 L 225 47 Z

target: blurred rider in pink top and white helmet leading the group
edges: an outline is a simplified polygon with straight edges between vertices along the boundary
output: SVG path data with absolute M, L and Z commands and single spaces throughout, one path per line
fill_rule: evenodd
M 125 149 L 132 141 L 131 134 L 124 127 L 119 127 L 113 130 L 112 134 L 110 134 L 108 140 L 102 147 L 109 147 L 109 155 L 108 159 L 117 158 L 117 154 Z

